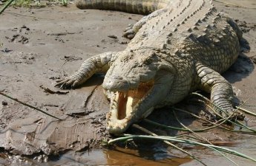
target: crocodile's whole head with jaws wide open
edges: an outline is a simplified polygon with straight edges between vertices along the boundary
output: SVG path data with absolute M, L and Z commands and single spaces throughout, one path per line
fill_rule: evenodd
M 122 52 L 105 75 L 103 88 L 111 92 L 107 129 L 120 134 L 147 117 L 165 101 L 173 81 L 173 67 L 154 52 Z

